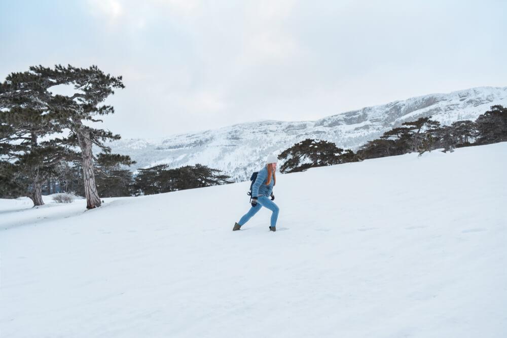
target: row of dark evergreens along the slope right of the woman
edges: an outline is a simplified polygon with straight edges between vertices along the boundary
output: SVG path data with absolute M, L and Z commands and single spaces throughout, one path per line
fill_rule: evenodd
M 361 146 L 356 153 L 339 148 L 332 142 L 306 139 L 283 151 L 278 159 L 283 162 L 280 171 L 290 173 L 413 152 L 422 155 L 434 149 L 448 152 L 456 147 L 502 141 L 507 141 L 507 108 L 494 105 L 476 121 L 457 121 L 450 126 L 442 126 L 426 117 L 402 123 L 400 127 Z

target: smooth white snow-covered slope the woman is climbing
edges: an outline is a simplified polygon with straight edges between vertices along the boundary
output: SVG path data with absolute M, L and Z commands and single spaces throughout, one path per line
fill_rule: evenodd
M 505 337 L 507 143 L 30 208 L 0 200 L 1 337 Z

